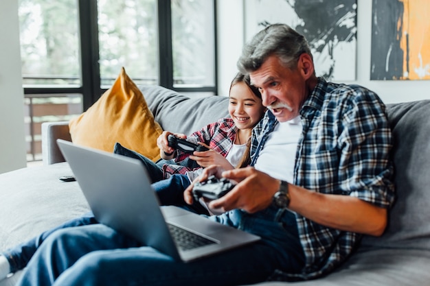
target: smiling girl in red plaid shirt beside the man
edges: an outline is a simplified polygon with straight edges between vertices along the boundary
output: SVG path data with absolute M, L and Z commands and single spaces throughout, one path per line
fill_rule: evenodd
M 161 204 L 181 206 L 194 213 L 212 215 L 212 212 L 201 202 L 186 204 L 183 200 L 183 190 L 201 174 L 202 167 L 221 165 L 224 169 L 234 169 L 234 167 L 249 165 L 251 131 L 266 110 L 262 106 L 260 92 L 251 86 L 249 77 L 238 73 L 231 82 L 228 110 L 230 118 L 211 123 L 188 137 L 185 134 L 175 134 L 193 143 L 205 145 L 210 148 L 209 151 L 185 154 L 168 145 L 167 138 L 172 134 L 171 132 L 163 132 L 159 136 L 157 145 L 160 148 L 161 158 L 168 160 L 176 156 L 177 162 L 191 159 L 199 165 L 194 169 L 178 165 L 163 165 L 161 169 L 168 180 L 160 180 L 152 184 Z

